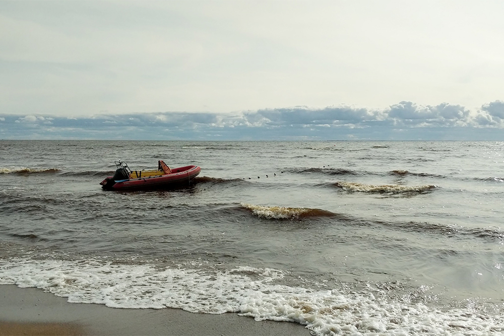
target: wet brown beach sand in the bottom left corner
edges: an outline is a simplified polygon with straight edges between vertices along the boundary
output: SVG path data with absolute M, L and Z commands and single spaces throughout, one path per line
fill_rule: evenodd
M 68 303 L 36 288 L 0 285 L 0 335 L 304 335 L 292 322 L 255 321 L 234 313 L 117 309 Z

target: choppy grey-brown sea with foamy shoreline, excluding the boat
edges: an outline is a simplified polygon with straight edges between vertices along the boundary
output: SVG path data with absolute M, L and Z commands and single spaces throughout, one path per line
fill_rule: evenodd
M 198 165 L 176 190 L 106 191 Z M 0 141 L 0 284 L 312 335 L 504 334 L 504 143 Z

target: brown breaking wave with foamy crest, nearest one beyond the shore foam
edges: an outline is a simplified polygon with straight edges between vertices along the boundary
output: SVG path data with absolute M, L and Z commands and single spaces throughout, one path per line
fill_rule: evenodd
M 311 217 L 333 217 L 336 214 L 321 210 L 310 208 L 286 208 L 286 207 L 265 207 L 256 206 L 248 203 L 240 203 L 240 206 L 253 215 L 265 219 L 298 219 L 298 218 L 311 218 Z

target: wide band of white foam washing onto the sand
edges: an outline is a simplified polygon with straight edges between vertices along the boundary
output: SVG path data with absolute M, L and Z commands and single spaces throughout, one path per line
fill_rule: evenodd
M 271 268 L 228 271 L 156 268 L 102 260 L 0 260 L 0 284 L 37 287 L 69 302 L 115 308 L 236 312 L 256 320 L 293 321 L 316 335 L 500 335 L 504 319 L 470 308 L 442 311 L 345 290 L 276 285 Z

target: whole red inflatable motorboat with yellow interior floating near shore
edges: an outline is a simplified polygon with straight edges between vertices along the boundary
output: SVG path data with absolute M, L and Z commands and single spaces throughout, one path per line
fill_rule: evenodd
M 162 160 L 158 169 L 131 170 L 124 161 L 115 161 L 117 170 L 100 182 L 106 190 L 169 189 L 191 185 L 201 171 L 199 166 L 169 168 Z

